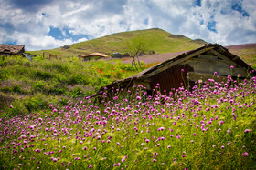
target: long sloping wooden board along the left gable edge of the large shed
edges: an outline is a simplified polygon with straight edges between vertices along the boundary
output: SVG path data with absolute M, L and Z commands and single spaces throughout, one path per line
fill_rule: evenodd
M 146 74 L 146 73 L 145 73 L 145 75 L 142 75 L 141 78 L 147 78 L 147 77 L 150 77 L 150 76 L 152 76 L 152 75 L 156 75 L 156 74 L 158 74 L 158 73 L 161 73 L 161 72 L 163 72 L 164 70 L 166 70 L 166 69 L 168 69 L 168 68 L 171 68 L 171 67 L 174 66 L 174 65 L 178 65 L 178 64 L 180 64 L 180 63 L 182 63 L 182 62 L 185 62 L 185 61 L 187 61 L 188 59 L 190 59 L 190 58 L 192 58 L 192 57 L 194 57 L 194 56 L 200 55 L 200 54 L 202 54 L 202 53 L 205 53 L 205 52 L 207 52 L 207 51 L 209 51 L 209 50 L 211 50 L 211 49 L 213 49 L 213 48 L 214 48 L 214 46 L 209 46 L 209 47 L 203 48 L 203 49 L 201 49 L 201 50 L 198 50 L 198 51 L 195 52 L 195 53 L 189 54 L 189 55 L 185 56 L 184 58 L 180 58 L 180 59 L 178 59 L 178 60 L 176 60 L 176 61 L 174 61 L 174 62 L 172 62 L 172 63 L 166 63 L 165 65 L 159 65 L 159 67 L 157 67 L 157 69 L 155 69 L 155 71 L 153 71 L 153 72 L 151 72 L 151 73 L 149 73 L 149 74 Z

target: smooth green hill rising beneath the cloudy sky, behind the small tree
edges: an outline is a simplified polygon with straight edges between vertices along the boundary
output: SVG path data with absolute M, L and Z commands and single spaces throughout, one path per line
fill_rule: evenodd
M 32 52 L 32 54 L 41 55 L 43 52 L 48 52 L 52 55 L 58 55 L 59 57 L 69 57 L 87 55 L 94 52 L 107 55 L 112 55 L 113 52 L 125 53 L 127 42 L 131 41 L 131 39 L 136 36 L 146 37 L 151 45 L 151 49 L 154 50 L 156 54 L 187 51 L 206 43 L 203 40 L 192 40 L 184 35 L 172 35 L 162 29 L 153 28 L 106 35 L 73 45 Z

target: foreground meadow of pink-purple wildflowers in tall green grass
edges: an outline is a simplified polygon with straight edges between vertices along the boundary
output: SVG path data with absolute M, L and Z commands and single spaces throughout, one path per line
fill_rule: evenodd
M 101 92 L 0 119 L 3 169 L 255 169 L 256 77 Z M 107 90 L 107 89 L 106 89 Z M 135 95 L 135 96 L 134 96 Z M 110 96 L 112 96 L 110 98 Z M 10 105 L 9 109 L 14 109 Z

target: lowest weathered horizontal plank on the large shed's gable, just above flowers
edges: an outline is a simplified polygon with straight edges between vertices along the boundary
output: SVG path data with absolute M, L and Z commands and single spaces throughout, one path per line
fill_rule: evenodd
M 197 72 L 189 72 L 189 75 L 187 75 L 187 79 L 190 81 L 198 81 L 202 80 L 203 82 L 208 81 L 208 79 L 214 79 L 216 82 L 226 82 L 228 80 L 227 76 L 220 76 L 217 78 L 217 75 L 210 75 L 210 74 L 203 74 L 203 73 L 197 73 Z

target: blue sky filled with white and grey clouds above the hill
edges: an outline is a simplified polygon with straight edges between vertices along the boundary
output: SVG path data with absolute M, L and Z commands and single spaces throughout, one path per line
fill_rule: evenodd
M 256 43 L 255 0 L 0 0 L 0 44 L 28 51 L 160 28 L 220 45 Z

